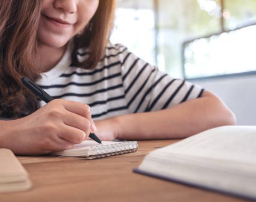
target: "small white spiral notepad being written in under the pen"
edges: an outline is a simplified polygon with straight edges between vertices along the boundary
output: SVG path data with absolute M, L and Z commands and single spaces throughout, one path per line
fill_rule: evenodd
M 74 149 L 67 149 L 51 154 L 57 156 L 93 159 L 132 153 L 137 150 L 138 144 L 136 141 L 102 141 L 101 145 L 92 140 L 85 140 L 81 144 L 75 145 Z

